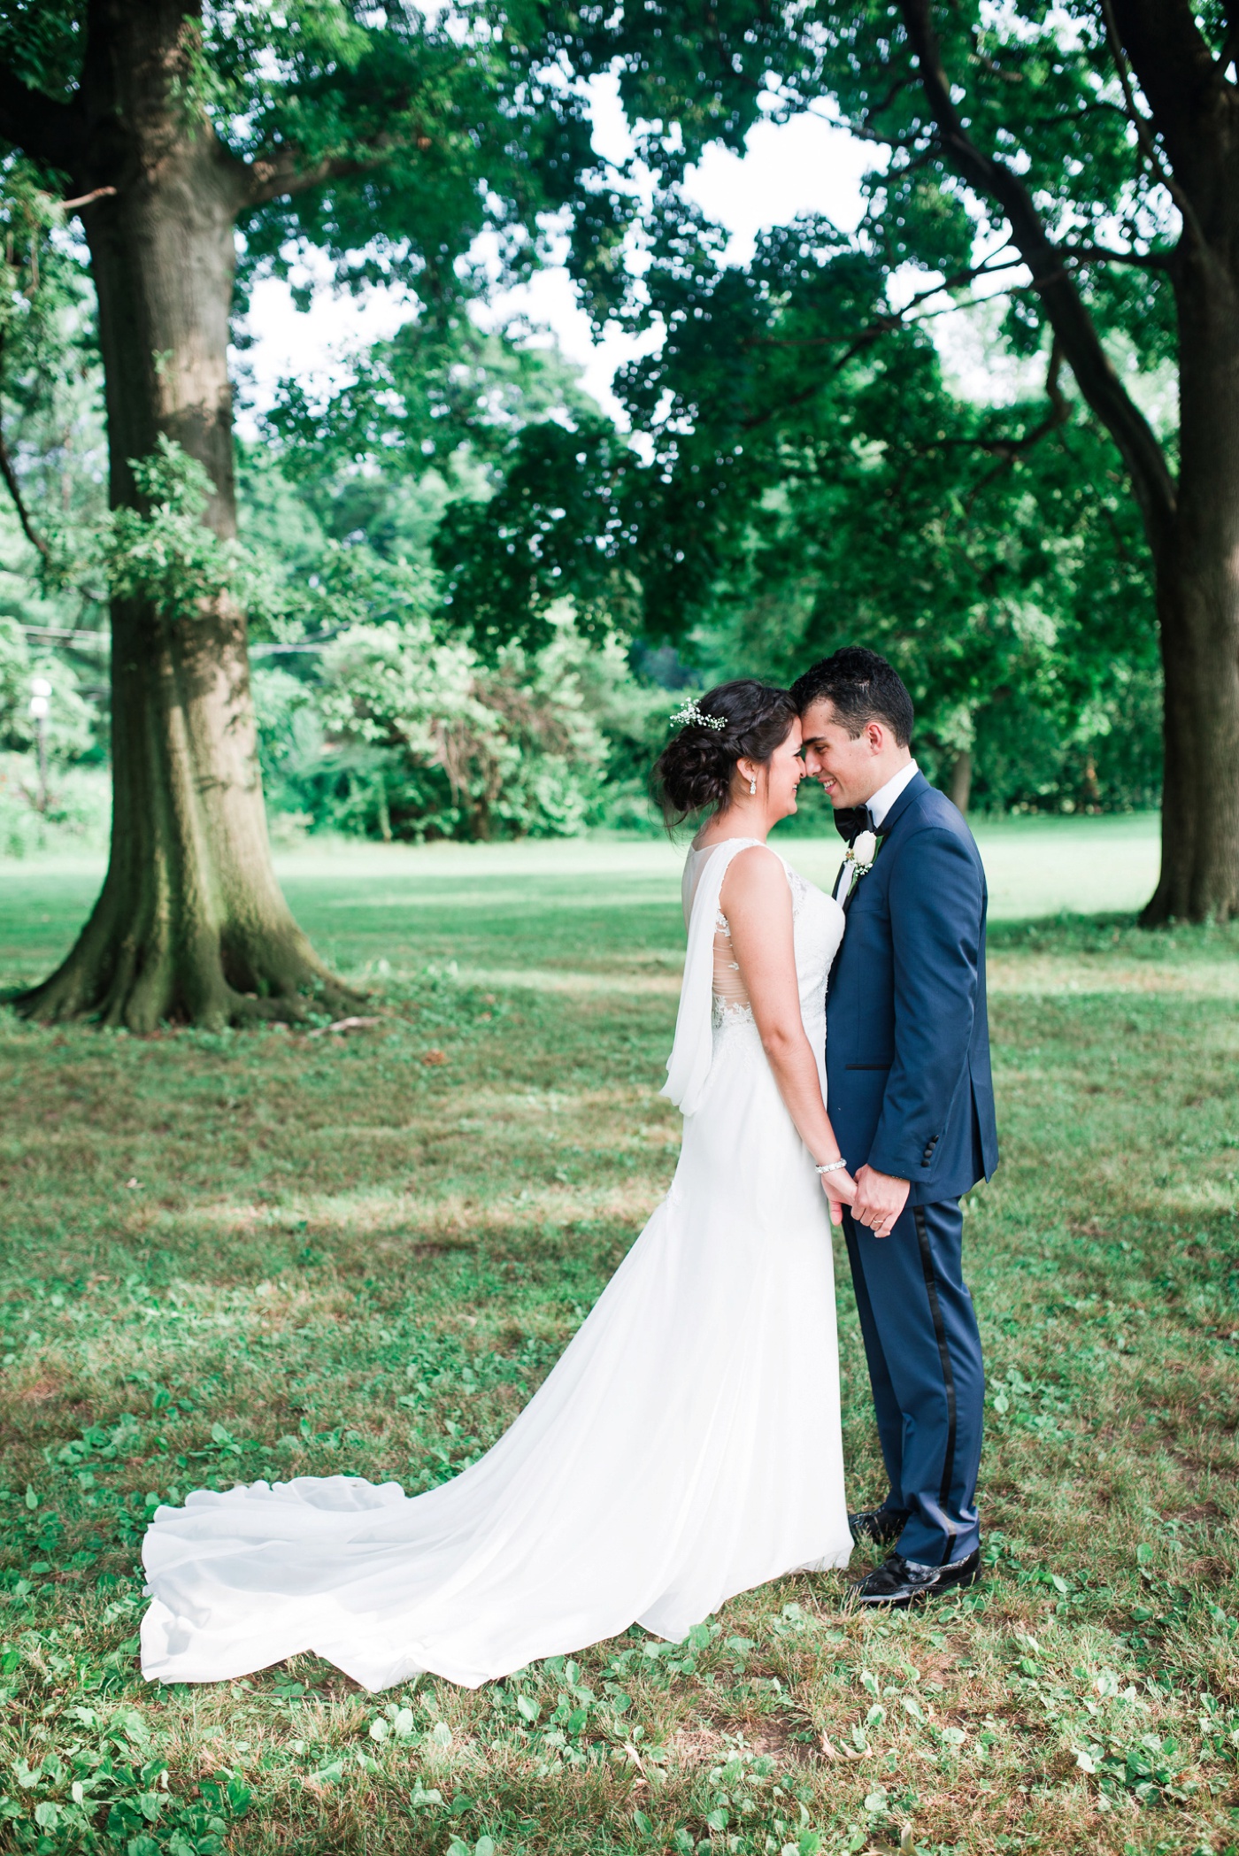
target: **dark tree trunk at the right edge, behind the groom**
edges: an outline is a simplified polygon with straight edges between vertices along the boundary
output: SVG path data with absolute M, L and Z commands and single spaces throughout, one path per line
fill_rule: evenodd
M 1239 275 L 1219 252 L 1187 256 L 1176 295 L 1180 483 L 1157 557 L 1161 878 L 1146 926 L 1239 915 Z

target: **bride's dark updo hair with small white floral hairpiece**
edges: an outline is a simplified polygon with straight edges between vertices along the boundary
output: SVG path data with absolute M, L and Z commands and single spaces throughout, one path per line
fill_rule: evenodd
M 757 677 L 720 683 L 686 707 L 703 720 L 684 722 L 655 761 L 655 796 L 668 824 L 725 806 L 736 761 L 768 761 L 799 716 L 790 690 Z

